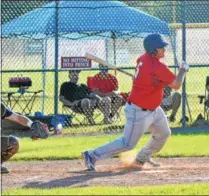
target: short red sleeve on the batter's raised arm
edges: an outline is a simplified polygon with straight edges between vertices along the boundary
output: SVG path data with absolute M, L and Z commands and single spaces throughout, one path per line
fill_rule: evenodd
M 175 74 L 163 63 L 159 63 L 158 66 L 155 66 L 154 73 L 157 78 L 166 85 L 171 84 L 176 79 Z

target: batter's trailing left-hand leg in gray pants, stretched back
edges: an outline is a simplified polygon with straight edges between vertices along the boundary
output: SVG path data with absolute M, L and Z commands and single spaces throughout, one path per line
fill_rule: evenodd
M 144 131 L 153 123 L 153 112 L 142 111 L 134 104 L 125 105 L 126 124 L 123 136 L 118 139 L 100 146 L 95 150 L 89 150 L 91 157 L 99 160 L 133 149 Z

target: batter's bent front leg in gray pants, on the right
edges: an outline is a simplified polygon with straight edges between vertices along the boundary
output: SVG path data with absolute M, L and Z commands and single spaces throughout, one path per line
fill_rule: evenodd
M 152 132 L 152 137 L 136 157 L 136 160 L 141 163 L 147 162 L 153 153 L 159 152 L 171 134 L 166 115 L 162 108 L 158 107 L 155 112 L 154 123 L 149 129 Z

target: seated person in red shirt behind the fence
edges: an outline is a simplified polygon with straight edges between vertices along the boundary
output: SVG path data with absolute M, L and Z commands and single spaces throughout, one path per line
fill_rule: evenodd
M 99 64 L 101 71 L 93 77 L 88 78 L 88 87 L 91 92 L 106 98 L 106 106 L 111 108 L 110 119 L 116 118 L 118 110 L 124 100 L 120 95 L 118 80 L 115 76 L 108 73 L 108 68 Z M 109 119 L 108 119 L 109 120 Z

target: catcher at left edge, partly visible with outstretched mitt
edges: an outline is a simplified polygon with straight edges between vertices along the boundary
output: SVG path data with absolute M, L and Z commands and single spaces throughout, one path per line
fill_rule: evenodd
M 19 123 L 25 127 L 29 127 L 32 135 L 32 139 L 38 139 L 37 133 L 42 134 L 43 137 L 48 137 L 48 127 L 46 124 L 43 124 L 39 121 L 31 121 L 26 116 L 17 114 L 7 108 L 3 103 L 1 103 L 1 119 L 10 120 L 16 123 Z M 46 133 L 46 134 L 45 134 Z M 18 152 L 19 149 L 19 140 L 12 135 L 1 136 L 1 174 L 9 173 L 9 170 L 6 167 L 2 166 L 2 163 L 8 161 L 13 155 Z

